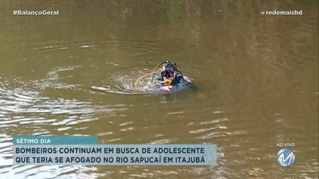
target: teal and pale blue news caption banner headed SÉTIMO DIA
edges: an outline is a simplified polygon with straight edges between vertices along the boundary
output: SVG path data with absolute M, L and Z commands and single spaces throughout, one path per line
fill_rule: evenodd
M 13 136 L 13 165 L 216 165 L 216 144 L 98 144 L 97 136 Z

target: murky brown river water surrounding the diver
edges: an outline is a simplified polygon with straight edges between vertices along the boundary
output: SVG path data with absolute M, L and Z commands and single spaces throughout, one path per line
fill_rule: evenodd
M 318 178 L 318 1 L 7 0 L 0 10 L 1 178 Z M 198 89 L 92 88 L 121 92 L 117 82 L 167 59 Z M 216 143 L 218 165 L 12 166 L 13 135 L 77 134 Z M 288 168 L 278 142 L 295 143 Z

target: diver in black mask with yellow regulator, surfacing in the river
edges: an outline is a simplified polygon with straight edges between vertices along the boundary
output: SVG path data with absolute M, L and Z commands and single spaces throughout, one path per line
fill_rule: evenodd
M 187 76 L 184 76 L 182 72 L 176 68 L 175 63 L 165 61 L 161 64 L 163 64 L 161 74 L 156 78 L 155 84 L 157 89 L 162 91 L 180 91 L 191 84 L 191 80 Z M 159 64 L 159 66 L 161 64 Z M 159 68 L 159 66 L 155 69 L 155 71 Z

